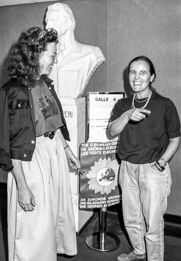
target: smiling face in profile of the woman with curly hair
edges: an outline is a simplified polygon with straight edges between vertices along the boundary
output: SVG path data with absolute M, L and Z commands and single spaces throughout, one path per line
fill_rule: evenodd
M 55 42 L 47 45 L 47 50 L 39 57 L 40 75 L 49 75 L 54 63 L 57 63 L 56 58 L 57 47 Z

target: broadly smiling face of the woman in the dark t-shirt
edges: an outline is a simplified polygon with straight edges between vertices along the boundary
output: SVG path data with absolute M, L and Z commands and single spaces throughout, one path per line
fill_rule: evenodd
M 154 74 L 150 74 L 149 64 L 143 60 L 135 61 L 130 65 L 129 80 L 132 89 L 140 94 L 149 93 L 149 82 L 154 79 Z

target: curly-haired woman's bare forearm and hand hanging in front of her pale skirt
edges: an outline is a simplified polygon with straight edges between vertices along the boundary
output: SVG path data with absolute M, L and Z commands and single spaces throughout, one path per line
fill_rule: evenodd
M 17 182 L 17 188 L 18 188 L 19 205 L 25 211 L 32 211 L 32 210 L 34 210 L 34 207 L 36 206 L 35 199 L 34 199 L 33 193 L 31 192 L 31 190 L 27 184 L 27 181 L 25 180 L 24 172 L 22 169 L 22 162 L 21 162 L 21 160 L 18 160 L 18 159 L 12 159 L 12 162 L 14 165 L 13 174 L 15 176 L 15 179 Z

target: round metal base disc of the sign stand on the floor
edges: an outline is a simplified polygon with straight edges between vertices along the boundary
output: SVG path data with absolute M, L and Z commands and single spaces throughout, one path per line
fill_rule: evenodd
M 106 232 L 106 246 L 105 249 L 101 249 L 100 232 L 95 232 L 87 236 L 86 244 L 93 251 L 106 253 L 117 249 L 120 245 L 120 240 L 117 235 Z

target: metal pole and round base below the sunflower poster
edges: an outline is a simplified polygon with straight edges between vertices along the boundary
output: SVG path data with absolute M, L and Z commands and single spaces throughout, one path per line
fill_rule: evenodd
M 120 245 L 120 240 L 117 235 L 106 232 L 107 208 L 100 208 L 100 231 L 94 232 L 87 236 L 87 246 L 96 252 L 111 252 L 117 249 Z

